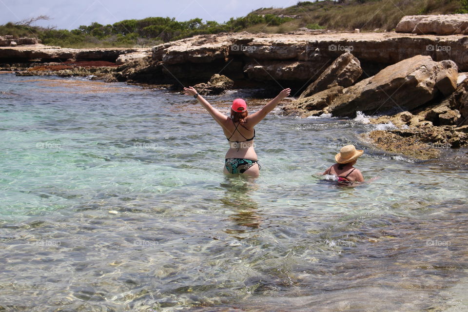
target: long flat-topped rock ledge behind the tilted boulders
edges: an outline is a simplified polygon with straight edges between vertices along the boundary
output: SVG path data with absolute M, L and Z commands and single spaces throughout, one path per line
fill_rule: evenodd
M 295 32 L 291 34 L 200 35 L 153 48 L 151 78 L 159 81 L 206 82 L 221 73 L 232 79 L 252 81 L 312 82 L 338 56 L 350 51 L 361 64 L 363 77 L 375 75 L 385 66 L 416 55 L 434 61 L 450 59 L 459 70 L 468 70 L 468 38 L 458 35 L 413 35 L 398 33 Z M 142 64 L 140 64 L 142 65 Z M 148 79 L 145 66 L 131 71 L 121 68 L 120 79 Z

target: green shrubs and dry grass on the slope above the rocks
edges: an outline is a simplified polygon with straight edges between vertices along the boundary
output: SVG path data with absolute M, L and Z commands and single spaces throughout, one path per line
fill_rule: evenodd
M 150 17 L 122 20 L 112 25 L 97 22 L 77 29 L 54 29 L 30 23 L 0 25 L 0 35 L 37 37 L 47 45 L 62 47 L 149 47 L 199 34 L 220 32 L 285 33 L 300 27 L 363 31 L 392 30 L 405 15 L 468 12 L 467 0 L 325 0 L 298 1 L 287 8 L 261 8 L 224 23 L 193 19 Z

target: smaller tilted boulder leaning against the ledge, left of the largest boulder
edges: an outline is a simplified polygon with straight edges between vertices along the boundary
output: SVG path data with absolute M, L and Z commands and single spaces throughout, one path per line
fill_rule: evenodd
M 349 51 L 340 55 L 331 65 L 307 87 L 299 98 L 307 98 L 323 91 L 328 85 L 337 83 L 350 87 L 362 75 L 361 63 Z

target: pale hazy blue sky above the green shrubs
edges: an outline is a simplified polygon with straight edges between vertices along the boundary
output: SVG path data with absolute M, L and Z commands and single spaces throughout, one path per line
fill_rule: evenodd
M 176 20 L 224 22 L 262 7 L 288 7 L 297 0 L 0 0 L 0 24 L 47 15 L 37 26 L 75 29 L 94 21 L 113 24 L 120 20 L 170 17 Z

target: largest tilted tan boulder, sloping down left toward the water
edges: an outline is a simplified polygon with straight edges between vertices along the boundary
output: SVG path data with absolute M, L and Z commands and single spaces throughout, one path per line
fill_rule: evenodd
M 405 59 L 345 89 L 329 111 L 334 116 L 352 117 L 356 111 L 375 115 L 415 109 L 438 94 L 436 81 L 450 75 L 449 69 L 429 56 Z

